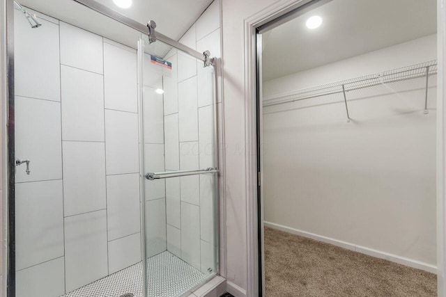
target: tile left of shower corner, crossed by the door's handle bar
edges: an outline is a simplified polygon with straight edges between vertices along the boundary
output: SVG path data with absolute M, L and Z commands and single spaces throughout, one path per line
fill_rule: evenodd
M 164 145 L 144 145 L 144 161 L 147 172 L 164 172 Z M 146 179 L 146 200 L 166 197 L 165 179 Z

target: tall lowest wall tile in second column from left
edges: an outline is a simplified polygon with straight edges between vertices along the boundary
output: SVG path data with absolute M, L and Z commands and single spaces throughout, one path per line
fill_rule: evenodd
M 103 278 L 108 273 L 106 211 L 65 218 L 66 291 Z

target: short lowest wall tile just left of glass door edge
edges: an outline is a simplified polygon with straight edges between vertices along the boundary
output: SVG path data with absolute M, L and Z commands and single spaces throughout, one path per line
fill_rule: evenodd
M 141 233 L 109 242 L 109 274 L 141 261 Z

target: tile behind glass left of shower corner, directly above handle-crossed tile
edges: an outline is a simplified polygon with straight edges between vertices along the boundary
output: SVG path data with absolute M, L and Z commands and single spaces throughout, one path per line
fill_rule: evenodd
M 144 143 L 164 143 L 164 109 L 162 95 L 144 86 Z

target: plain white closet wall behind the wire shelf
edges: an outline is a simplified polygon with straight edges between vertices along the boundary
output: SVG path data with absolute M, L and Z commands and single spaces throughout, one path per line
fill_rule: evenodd
M 434 59 L 429 35 L 266 81 L 263 90 L 275 95 Z M 264 108 L 265 221 L 435 271 L 436 77 L 429 115 L 424 85 L 347 93 L 350 123 L 341 95 Z

